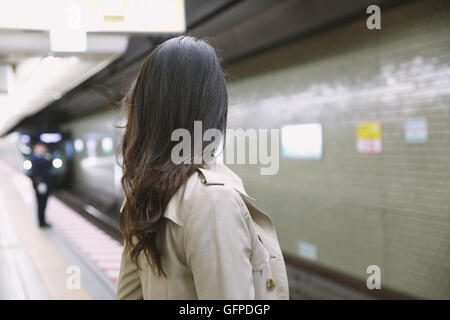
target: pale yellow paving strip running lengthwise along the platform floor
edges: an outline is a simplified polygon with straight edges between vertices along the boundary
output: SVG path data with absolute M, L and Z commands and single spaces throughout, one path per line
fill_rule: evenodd
M 23 203 L 23 198 L 12 186 L 11 178 L 14 173 L 11 170 L 0 162 L 0 197 L 3 198 L 5 209 L 17 231 L 17 245 L 29 255 L 46 296 L 49 299 L 91 299 L 83 288 L 67 288 L 68 265 L 46 234 L 37 227 L 36 218 L 30 212 L 31 208 Z M 28 188 L 25 190 L 24 192 L 30 191 Z

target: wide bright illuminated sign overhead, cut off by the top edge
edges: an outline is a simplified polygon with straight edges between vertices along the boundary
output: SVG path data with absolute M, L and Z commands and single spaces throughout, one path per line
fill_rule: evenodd
M 0 1 L 0 29 L 51 30 L 61 17 L 67 25 L 79 23 L 84 32 L 186 30 L 184 0 Z

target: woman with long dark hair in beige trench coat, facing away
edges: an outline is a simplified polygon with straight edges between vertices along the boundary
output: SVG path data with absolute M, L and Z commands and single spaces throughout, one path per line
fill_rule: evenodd
M 249 201 L 239 177 L 194 161 L 195 154 L 173 161 L 174 130 L 194 135 L 194 121 L 202 133 L 226 128 L 227 90 L 214 49 L 187 36 L 167 40 L 144 62 L 125 104 L 117 297 L 288 299 L 272 220 Z

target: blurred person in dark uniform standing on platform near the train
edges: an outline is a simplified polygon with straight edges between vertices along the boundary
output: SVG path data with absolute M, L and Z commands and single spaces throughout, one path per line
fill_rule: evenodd
M 45 144 L 37 143 L 31 155 L 31 180 L 36 192 L 38 221 L 41 228 L 50 227 L 45 220 L 45 207 L 52 188 L 51 159 Z

